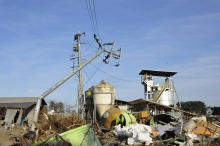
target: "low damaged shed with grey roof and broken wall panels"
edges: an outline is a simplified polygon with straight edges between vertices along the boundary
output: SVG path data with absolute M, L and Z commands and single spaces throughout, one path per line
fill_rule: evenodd
M 4 128 L 24 124 L 27 121 L 31 126 L 33 114 L 38 97 L 1 97 L 0 121 Z M 41 110 L 46 109 L 45 100 L 42 101 Z

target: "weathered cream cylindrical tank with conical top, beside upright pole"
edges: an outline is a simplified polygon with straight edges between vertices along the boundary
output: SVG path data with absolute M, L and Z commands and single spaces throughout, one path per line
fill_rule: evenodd
M 98 113 L 99 118 L 115 104 L 115 88 L 107 81 L 102 80 L 98 85 L 93 86 L 92 96 L 94 109 Z

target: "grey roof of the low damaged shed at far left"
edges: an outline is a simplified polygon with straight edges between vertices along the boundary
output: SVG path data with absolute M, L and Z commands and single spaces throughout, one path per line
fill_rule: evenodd
M 0 107 L 28 108 L 37 103 L 38 97 L 0 97 Z M 42 105 L 47 105 L 42 100 Z

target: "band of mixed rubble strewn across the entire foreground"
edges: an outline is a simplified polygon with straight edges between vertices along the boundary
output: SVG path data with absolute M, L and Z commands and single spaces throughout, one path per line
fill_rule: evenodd
M 119 115 L 121 113 L 117 114 L 112 121 Z M 68 139 L 66 137 L 73 135 L 73 138 L 70 138 L 73 140 L 75 130 L 87 127 L 80 137 L 87 137 L 86 135 L 89 134 L 90 140 L 86 141 L 95 138 L 97 139 L 96 145 L 219 145 L 219 125 L 207 121 L 204 116 L 184 119 L 182 116 L 175 115 L 175 113 L 155 115 L 149 119 L 151 122 L 148 122 L 148 125 L 133 122 L 133 124 L 123 126 L 120 122 L 115 122 L 114 129 L 108 130 L 104 125 L 86 126 L 86 121 L 76 113 L 69 116 L 41 113 L 35 133 L 29 131 L 25 124 L 24 126 L 15 125 L 11 129 L 0 131 L 0 141 L 7 139 L 11 143 L 6 143 L 6 145 L 20 144 L 24 146 L 38 145 L 39 142 L 49 140 L 47 145 L 68 145 L 69 140 L 66 140 Z M 94 132 L 88 133 L 88 129 Z M 65 137 L 66 133 L 68 134 Z M 52 137 L 56 137 L 55 139 L 58 141 L 51 141 Z M 1 142 L 0 144 L 2 144 Z

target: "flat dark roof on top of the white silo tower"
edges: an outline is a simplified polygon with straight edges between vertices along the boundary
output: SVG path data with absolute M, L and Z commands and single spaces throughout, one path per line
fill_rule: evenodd
M 177 72 L 172 71 L 159 71 L 159 70 L 142 70 L 139 75 L 152 75 L 152 76 L 162 76 L 162 77 L 171 77 Z

